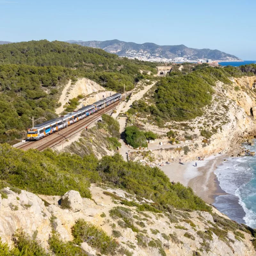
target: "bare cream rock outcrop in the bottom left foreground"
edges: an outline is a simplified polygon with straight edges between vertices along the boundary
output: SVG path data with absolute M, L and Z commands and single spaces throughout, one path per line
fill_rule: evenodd
M 51 233 L 51 213 L 44 202 L 35 194 L 21 190 L 17 194 L 5 188 L 8 198 L 0 200 L 0 237 L 3 242 L 12 244 L 12 234 L 17 229 L 24 230 L 29 236 L 37 230 L 38 241 L 46 246 L 47 237 Z M 1 197 L 0 197 L 1 198 Z M 2 201 L 2 203 L 1 203 Z

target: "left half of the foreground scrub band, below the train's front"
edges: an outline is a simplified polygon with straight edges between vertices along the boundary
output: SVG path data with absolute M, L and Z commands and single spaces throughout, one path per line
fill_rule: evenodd
M 11 187 L 54 196 L 73 189 L 90 198 L 91 182 L 100 180 L 95 172 L 98 160 L 94 156 L 57 154 L 51 149 L 23 151 L 7 144 L 1 144 L 0 150 L 0 180 Z

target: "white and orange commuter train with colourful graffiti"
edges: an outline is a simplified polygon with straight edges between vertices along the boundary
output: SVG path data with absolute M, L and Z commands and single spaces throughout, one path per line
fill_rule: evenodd
M 77 111 L 48 120 L 41 124 L 36 124 L 34 127 L 28 129 L 27 140 L 40 140 L 53 132 L 59 131 L 70 124 L 76 123 L 87 116 L 93 115 L 100 109 L 121 100 L 121 98 L 121 93 L 115 93 L 112 96 L 108 96 L 105 99 L 92 103 L 92 105 L 79 108 Z

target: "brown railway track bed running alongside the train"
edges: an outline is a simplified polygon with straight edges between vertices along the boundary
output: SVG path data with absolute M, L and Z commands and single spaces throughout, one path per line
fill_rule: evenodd
M 124 99 L 124 96 L 122 97 L 122 99 Z M 94 113 L 93 115 L 88 116 L 88 117 L 84 118 L 83 120 L 80 120 L 64 129 L 61 129 L 58 132 L 54 132 L 54 133 L 44 137 L 41 140 L 28 141 L 16 148 L 23 149 L 23 150 L 28 150 L 30 148 L 34 148 L 39 151 L 43 151 L 45 148 L 51 148 L 53 146 L 56 146 L 59 143 L 61 143 L 64 139 L 68 139 L 70 136 L 83 130 L 85 128 L 85 126 L 88 126 L 88 125 L 92 124 L 93 122 L 95 122 L 97 119 L 100 118 L 100 116 L 102 114 L 104 114 L 104 113 L 108 114 L 109 112 L 113 111 L 119 103 L 120 103 L 120 101 L 115 102 L 115 103 L 109 105 L 108 107 L 99 110 L 98 112 Z

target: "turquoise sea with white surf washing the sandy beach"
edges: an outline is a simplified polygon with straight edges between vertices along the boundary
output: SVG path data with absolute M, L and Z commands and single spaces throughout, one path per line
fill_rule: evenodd
M 255 146 L 247 146 L 256 151 Z M 256 156 L 227 157 L 215 174 L 227 195 L 217 196 L 214 206 L 230 219 L 256 228 Z

